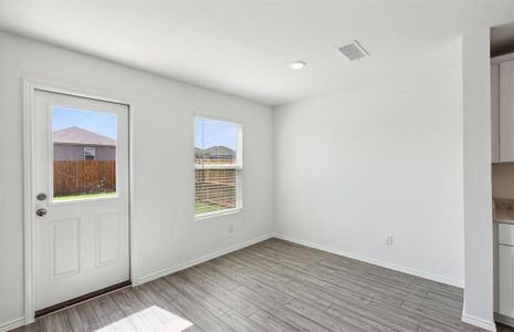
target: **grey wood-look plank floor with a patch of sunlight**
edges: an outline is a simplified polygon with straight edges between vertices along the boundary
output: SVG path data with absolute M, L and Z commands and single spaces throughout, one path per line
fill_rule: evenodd
M 461 289 L 270 239 L 19 331 L 480 331 L 461 310 Z

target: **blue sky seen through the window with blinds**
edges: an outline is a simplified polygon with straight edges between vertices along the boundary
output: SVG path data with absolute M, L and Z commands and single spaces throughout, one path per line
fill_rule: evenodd
M 227 146 L 235 149 L 238 145 L 238 125 L 207 117 L 195 117 L 195 147 Z

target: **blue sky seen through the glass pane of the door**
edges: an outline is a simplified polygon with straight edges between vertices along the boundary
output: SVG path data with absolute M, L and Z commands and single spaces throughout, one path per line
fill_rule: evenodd
M 52 117 L 53 132 L 77 126 L 113 139 L 117 138 L 116 114 L 53 106 Z

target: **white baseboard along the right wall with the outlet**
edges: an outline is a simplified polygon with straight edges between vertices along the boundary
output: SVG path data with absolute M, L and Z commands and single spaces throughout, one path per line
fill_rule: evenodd
M 335 253 L 335 255 L 353 258 L 353 259 L 356 259 L 356 260 L 360 260 L 360 261 L 364 261 L 364 262 L 368 262 L 370 264 L 379 266 L 379 267 L 382 267 L 382 268 L 386 268 L 386 269 L 391 269 L 391 270 L 403 272 L 403 273 L 407 273 L 407 274 L 412 274 L 412 276 L 420 277 L 420 278 L 423 278 L 423 279 L 428 279 L 428 280 L 432 280 L 432 281 L 437 281 L 437 282 L 441 282 L 441 283 L 459 287 L 459 288 L 464 287 L 464 282 L 461 281 L 461 280 L 449 279 L 449 278 L 440 277 L 440 276 L 432 274 L 432 273 L 429 273 L 429 272 L 419 271 L 419 270 L 415 270 L 415 269 L 410 269 L 410 268 L 405 268 L 405 267 L 397 266 L 397 264 L 394 264 L 394 263 L 390 263 L 390 262 L 387 262 L 387 261 L 382 261 L 382 260 L 379 260 L 379 259 L 365 257 L 365 256 L 357 255 L 357 253 L 346 251 L 346 250 L 342 250 L 342 249 L 334 249 L 334 248 L 329 248 L 329 247 L 325 247 L 325 246 L 319 246 L 319 245 L 316 245 L 316 243 L 312 243 L 312 242 L 304 241 L 304 240 L 298 240 L 298 239 L 295 239 L 295 238 L 292 238 L 292 237 L 289 237 L 289 236 L 284 236 L 284 235 L 281 235 L 281 234 L 275 234 L 274 237 L 279 238 L 279 239 L 286 240 L 286 241 L 291 241 L 291 242 L 294 242 L 294 243 L 297 243 L 297 245 L 302 245 L 302 246 L 305 246 L 305 247 L 311 247 L 311 248 L 319 249 L 319 250 L 327 251 L 327 252 L 331 252 L 331 253 Z

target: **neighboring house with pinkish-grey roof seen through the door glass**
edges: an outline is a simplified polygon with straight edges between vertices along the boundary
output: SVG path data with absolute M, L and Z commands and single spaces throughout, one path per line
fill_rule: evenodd
M 53 132 L 54 160 L 114 160 L 116 141 L 81 127 Z

